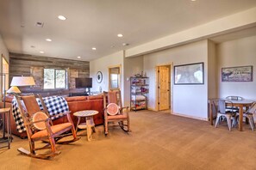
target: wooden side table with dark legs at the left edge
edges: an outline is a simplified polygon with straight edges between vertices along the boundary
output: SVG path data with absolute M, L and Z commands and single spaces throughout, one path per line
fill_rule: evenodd
M 0 148 L 10 147 L 11 130 L 10 130 L 10 108 L 0 108 L 0 114 L 3 116 L 3 137 L 0 138 L 0 143 L 8 143 L 7 146 L 0 146 Z M 7 128 L 7 137 L 5 137 L 5 127 Z

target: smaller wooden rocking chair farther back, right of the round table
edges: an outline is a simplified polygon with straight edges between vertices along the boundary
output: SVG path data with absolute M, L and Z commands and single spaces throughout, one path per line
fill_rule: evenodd
M 123 131 L 130 132 L 128 106 L 122 107 L 120 90 L 103 92 L 103 102 L 105 135 L 109 133 L 109 122 L 118 122 Z

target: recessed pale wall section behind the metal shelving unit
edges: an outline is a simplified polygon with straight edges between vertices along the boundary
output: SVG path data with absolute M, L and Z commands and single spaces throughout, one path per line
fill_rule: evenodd
M 140 74 L 143 71 L 143 56 L 136 58 L 124 58 L 124 106 L 130 106 L 130 76 Z

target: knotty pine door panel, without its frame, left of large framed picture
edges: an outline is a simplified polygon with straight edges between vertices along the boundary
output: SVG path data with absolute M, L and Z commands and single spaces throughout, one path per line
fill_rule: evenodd
M 159 66 L 159 110 L 170 108 L 170 69 Z

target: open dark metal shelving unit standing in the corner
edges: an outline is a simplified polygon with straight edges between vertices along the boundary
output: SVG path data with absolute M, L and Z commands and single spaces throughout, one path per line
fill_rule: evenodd
M 130 108 L 135 112 L 147 109 L 148 77 L 130 77 Z

